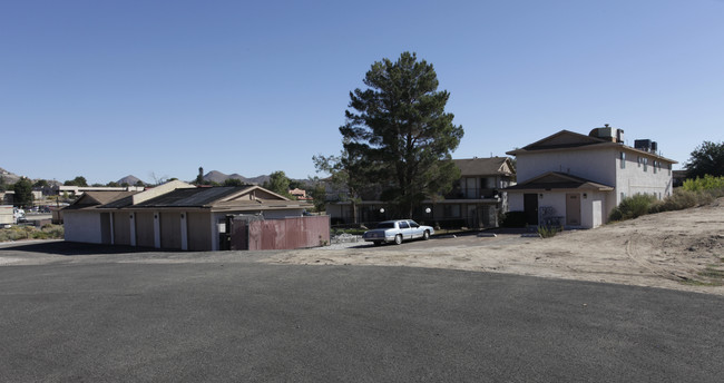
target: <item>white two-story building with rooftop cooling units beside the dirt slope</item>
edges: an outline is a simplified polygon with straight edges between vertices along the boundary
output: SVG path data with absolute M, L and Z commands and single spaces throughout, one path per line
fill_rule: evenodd
M 530 225 L 597 227 L 625 197 L 672 195 L 676 161 L 657 149 L 648 139 L 624 145 L 624 131 L 606 125 L 588 136 L 561 130 L 508 151 L 518 176 L 506 189 L 510 210 L 525 212 Z

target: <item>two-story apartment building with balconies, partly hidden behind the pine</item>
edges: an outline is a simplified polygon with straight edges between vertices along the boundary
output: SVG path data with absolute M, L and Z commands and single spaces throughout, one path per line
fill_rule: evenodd
M 474 157 L 452 161 L 460 169 L 460 179 L 452 190 L 424 200 L 412 218 L 442 227 L 498 226 L 498 214 L 508 208 L 508 198 L 502 189 L 515 184 L 516 170 L 510 157 Z M 358 209 L 358 223 L 400 218 L 391 216 L 385 204 L 375 196 L 352 204 L 340 198 L 343 194 L 339 190 L 327 193 L 326 213 L 333 223 L 353 224 L 353 208 Z

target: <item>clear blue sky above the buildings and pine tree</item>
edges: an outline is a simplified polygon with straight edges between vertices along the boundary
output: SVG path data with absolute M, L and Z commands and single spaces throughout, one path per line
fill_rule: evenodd
M 724 139 L 722 20 L 721 0 L 0 1 L 0 167 L 314 176 L 349 92 L 403 51 L 451 94 L 454 158 L 610 124 L 684 163 Z

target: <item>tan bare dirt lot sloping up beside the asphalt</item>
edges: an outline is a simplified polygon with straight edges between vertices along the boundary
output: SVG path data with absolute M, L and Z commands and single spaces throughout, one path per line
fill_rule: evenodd
M 565 232 L 499 234 L 274 254 L 265 262 L 454 268 L 724 295 L 724 198 L 712 205 Z

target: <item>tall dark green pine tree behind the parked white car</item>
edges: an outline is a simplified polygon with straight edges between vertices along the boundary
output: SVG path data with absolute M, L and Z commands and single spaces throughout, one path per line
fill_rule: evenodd
M 374 62 L 364 77 L 368 89 L 350 92 L 346 124 L 340 127 L 350 173 L 381 186 L 382 199 L 411 217 L 423 199 L 448 192 L 460 171 L 451 151 L 463 136 L 444 107 L 438 76 L 415 53 Z

